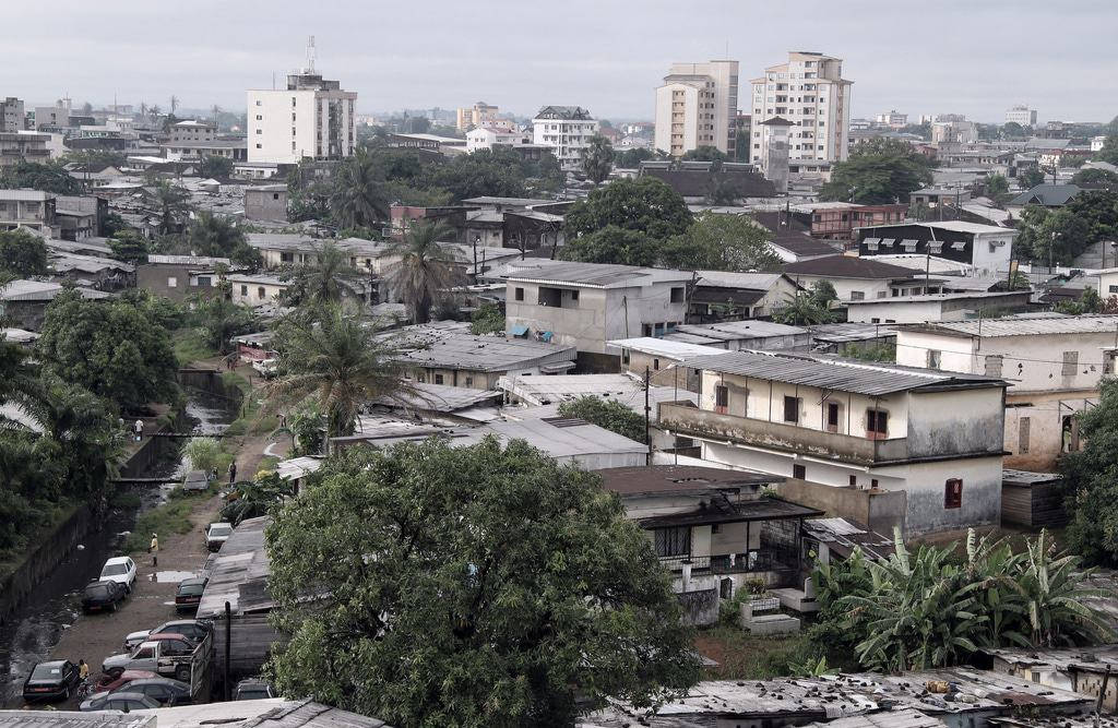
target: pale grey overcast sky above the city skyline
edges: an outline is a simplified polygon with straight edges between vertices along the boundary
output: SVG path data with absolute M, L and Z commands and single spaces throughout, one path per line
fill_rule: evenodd
M 1118 114 L 1116 0 L 54 0 L 4 1 L 0 96 L 244 111 L 246 88 L 303 64 L 361 112 L 577 104 L 653 116 L 674 60 L 729 57 L 741 79 L 787 51 L 844 59 L 853 115 L 896 108 L 1003 121 Z M 727 56 L 729 48 L 729 56 Z M 17 60 L 18 59 L 18 60 Z M 748 87 L 741 98 L 748 98 Z

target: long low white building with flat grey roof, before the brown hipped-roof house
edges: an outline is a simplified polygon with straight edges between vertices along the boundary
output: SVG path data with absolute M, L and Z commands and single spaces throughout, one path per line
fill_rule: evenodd
M 929 293 L 846 302 L 853 323 L 925 323 L 1005 315 L 1029 309 L 1032 291 Z

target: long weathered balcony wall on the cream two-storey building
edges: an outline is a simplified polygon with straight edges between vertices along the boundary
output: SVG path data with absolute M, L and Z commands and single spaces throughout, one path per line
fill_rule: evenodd
M 740 443 L 799 455 L 873 465 L 907 460 L 908 438 L 868 439 L 786 423 L 738 417 L 684 404 L 660 405 L 663 428 L 701 439 Z

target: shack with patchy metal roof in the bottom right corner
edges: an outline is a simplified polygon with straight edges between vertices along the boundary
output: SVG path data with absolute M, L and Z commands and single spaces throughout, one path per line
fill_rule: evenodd
M 1102 679 L 1110 671 L 1103 712 L 1118 711 L 1118 645 L 1072 647 L 1065 650 L 984 650 L 993 670 L 1058 690 L 1090 696 L 1095 702 Z

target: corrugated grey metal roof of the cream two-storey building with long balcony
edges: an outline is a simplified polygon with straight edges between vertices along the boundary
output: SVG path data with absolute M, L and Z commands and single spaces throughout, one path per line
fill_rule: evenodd
M 728 351 L 692 359 L 688 366 L 871 397 L 956 382 L 976 387 L 1005 386 L 999 379 L 988 377 L 792 352 Z

